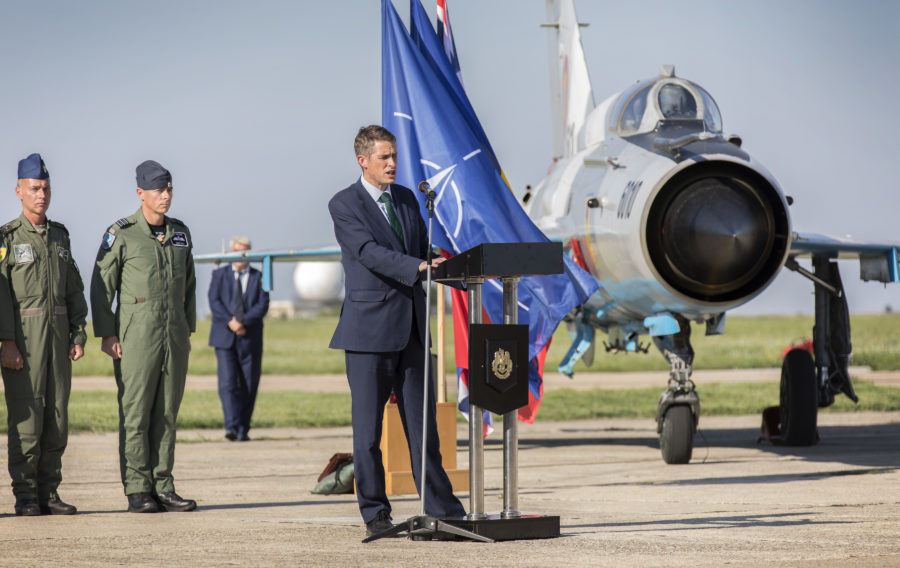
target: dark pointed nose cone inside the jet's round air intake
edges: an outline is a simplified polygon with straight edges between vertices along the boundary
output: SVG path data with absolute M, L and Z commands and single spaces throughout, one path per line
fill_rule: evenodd
M 670 268 L 698 288 L 734 290 L 772 253 L 774 220 L 757 194 L 728 178 L 684 188 L 662 219 Z

